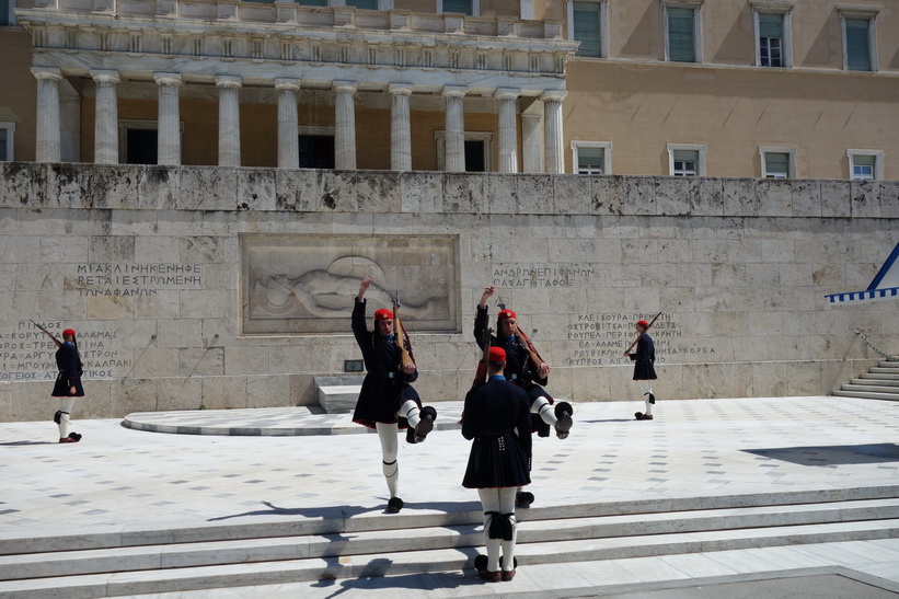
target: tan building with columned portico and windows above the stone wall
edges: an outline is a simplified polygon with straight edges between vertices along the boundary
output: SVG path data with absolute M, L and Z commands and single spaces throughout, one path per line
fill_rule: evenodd
M 895 180 L 889 0 L 0 2 L 4 160 Z

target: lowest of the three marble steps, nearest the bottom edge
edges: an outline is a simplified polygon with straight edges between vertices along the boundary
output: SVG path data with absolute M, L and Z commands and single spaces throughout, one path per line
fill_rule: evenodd
M 765 548 L 871 539 L 899 534 L 899 520 L 834 522 L 777 528 L 687 532 L 553 542 L 519 543 L 519 565 L 619 560 L 733 549 Z M 334 557 L 280 560 L 215 566 L 146 569 L 84 576 L 56 576 L 0 581 L 4 599 L 120 597 L 208 588 L 287 584 L 300 580 L 359 578 L 450 572 L 472 567 L 483 548 L 377 552 Z

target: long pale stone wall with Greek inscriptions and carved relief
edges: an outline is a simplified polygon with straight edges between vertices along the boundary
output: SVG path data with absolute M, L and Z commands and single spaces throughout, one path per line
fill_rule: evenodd
M 0 163 L 0 421 L 45 419 L 80 333 L 79 417 L 311 404 L 360 359 L 358 279 L 399 291 L 426 401 L 459 400 L 486 285 L 576 402 L 826 394 L 897 354 L 867 287 L 899 241 L 899 183 Z M 377 306 L 376 306 L 377 304 Z M 495 301 L 491 312 L 495 314 Z

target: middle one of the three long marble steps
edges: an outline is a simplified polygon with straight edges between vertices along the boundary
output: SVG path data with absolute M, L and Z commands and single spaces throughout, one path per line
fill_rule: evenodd
M 567 519 L 531 519 L 519 512 L 521 544 L 566 540 L 667 535 L 684 532 L 863 522 L 899 518 L 899 498 L 707 509 Z M 184 542 L 0 556 L 0 579 L 215 566 L 300 558 L 334 558 L 379 551 L 479 546 L 476 523 L 268 539 Z

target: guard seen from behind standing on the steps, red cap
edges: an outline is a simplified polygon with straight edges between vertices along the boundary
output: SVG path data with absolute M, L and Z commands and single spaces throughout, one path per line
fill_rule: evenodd
M 462 486 L 477 489 L 487 544 L 486 558 L 479 555 L 474 565 L 492 583 L 515 577 L 515 496 L 531 482 L 530 400 L 506 381 L 504 368 L 506 352 L 491 347 L 489 378 L 465 396 L 462 422 L 462 436 L 472 440 Z

